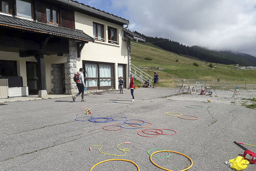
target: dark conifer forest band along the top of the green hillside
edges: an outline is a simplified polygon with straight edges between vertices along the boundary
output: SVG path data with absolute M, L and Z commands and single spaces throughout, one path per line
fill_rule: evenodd
M 137 31 L 134 33 L 146 38 L 146 41 L 149 43 L 153 43 L 156 46 L 164 50 L 168 50 L 179 55 L 189 55 L 201 60 L 205 60 L 211 63 L 222 63 L 226 65 L 238 64 L 242 66 L 256 66 L 256 58 L 252 55 L 248 55 L 245 53 L 232 53 L 230 51 L 214 51 L 208 50 L 205 48 L 201 48 L 199 46 L 186 46 L 177 41 L 169 40 L 167 38 L 158 38 L 146 36 Z

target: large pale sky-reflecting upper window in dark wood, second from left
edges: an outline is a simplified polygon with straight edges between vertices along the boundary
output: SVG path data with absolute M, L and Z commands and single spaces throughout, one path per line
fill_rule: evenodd
M 17 16 L 32 19 L 31 0 L 16 0 Z

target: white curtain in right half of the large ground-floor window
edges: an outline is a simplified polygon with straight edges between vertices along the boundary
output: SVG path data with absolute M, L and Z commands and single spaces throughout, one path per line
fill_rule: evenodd
M 113 77 L 112 65 L 100 64 L 100 78 Z M 112 86 L 112 79 L 100 79 L 100 86 Z

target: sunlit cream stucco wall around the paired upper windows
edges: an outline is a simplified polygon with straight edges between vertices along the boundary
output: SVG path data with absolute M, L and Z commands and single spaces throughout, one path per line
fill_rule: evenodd
M 100 20 L 82 13 L 75 12 L 75 27 L 83 30 L 84 33 L 93 37 L 93 22 L 104 25 L 105 42 L 95 40 L 95 43 L 87 43 L 84 45 L 81 53 L 81 59 L 77 61 L 77 68 L 82 68 L 82 60 L 90 60 L 96 62 L 106 62 L 115 64 L 115 88 L 118 89 L 118 64 L 128 65 L 127 42 L 122 40 L 122 29 L 120 25 L 116 25 L 104 20 Z M 108 43 L 108 26 L 117 28 L 118 45 Z M 126 69 L 127 70 L 127 69 Z M 128 80 L 128 75 L 126 73 Z M 125 83 L 128 83 L 128 81 Z

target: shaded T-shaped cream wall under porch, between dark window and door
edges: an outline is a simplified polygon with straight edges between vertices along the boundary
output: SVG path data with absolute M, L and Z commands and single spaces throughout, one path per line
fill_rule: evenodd
M 19 57 L 19 53 L 0 51 L 0 60 L 16 60 L 18 76 L 22 76 L 23 86 L 27 86 L 26 61 L 37 62 L 35 57 Z

